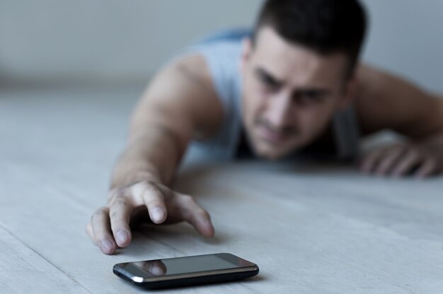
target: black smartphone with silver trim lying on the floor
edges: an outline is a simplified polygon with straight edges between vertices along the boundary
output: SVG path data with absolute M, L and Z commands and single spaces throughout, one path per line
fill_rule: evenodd
M 217 253 L 115 264 L 114 274 L 148 289 L 192 286 L 249 278 L 257 264 L 234 254 Z

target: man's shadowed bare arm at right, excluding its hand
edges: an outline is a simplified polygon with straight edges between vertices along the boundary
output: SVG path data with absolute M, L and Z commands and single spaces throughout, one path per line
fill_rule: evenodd
M 443 100 L 392 74 L 360 66 L 357 113 L 364 134 L 393 129 L 422 138 L 443 130 Z

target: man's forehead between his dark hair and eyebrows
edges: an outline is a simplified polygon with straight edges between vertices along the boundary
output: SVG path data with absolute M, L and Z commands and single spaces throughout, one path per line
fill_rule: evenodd
M 252 60 L 255 66 L 294 86 L 340 83 L 347 66 L 345 54 L 318 54 L 307 47 L 287 42 L 267 26 L 258 31 Z

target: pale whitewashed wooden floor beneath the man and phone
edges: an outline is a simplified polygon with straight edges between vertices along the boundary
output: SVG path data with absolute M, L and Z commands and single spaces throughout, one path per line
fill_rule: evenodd
M 123 261 L 231 252 L 249 281 L 177 293 L 443 293 L 443 177 L 389 180 L 309 163 L 192 163 L 179 191 L 214 220 L 144 228 L 114 256 L 85 233 L 106 201 L 141 87 L 0 91 L 0 292 L 134 293 Z

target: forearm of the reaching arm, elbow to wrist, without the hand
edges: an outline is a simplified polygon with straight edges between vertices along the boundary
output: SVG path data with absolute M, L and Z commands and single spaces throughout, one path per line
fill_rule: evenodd
M 173 131 L 158 125 L 132 134 L 115 165 L 111 187 L 142 180 L 169 184 L 185 151 L 185 143 Z

